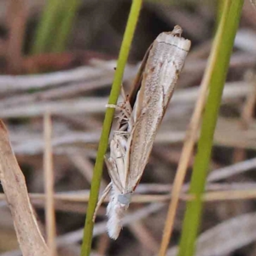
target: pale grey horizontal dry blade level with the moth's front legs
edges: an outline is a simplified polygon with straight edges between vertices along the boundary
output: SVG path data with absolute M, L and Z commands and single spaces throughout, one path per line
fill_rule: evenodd
M 1 78 L 0 78 L 1 80 Z M 1 81 L 0 81 L 1 90 Z M 240 98 L 247 96 L 252 91 L 251 86 L 247 83 L 230 82 L 225 84 L 224 102 L 237 101 Z M 60 93 L 60 91 L 58 92 Z M 172 105 L 185 103 L 194 103 L 197 99 L 199 90 L 197 87 L 184 90 L 177 90 L 172 97 Z M 26 97 L 26 96 L 25 96 Z M 22 97 L 21 97 L 22 98 Z M 39 97 L 40 98 L 40 97 Z M 73 114 L 73 113 L 103 113 L 106 110 L 108 99 L 106 97 L 78 97 L 75 100 L 67 99 L 60 101 L 37 102 L 37 97 L 30 97 L 29 101 L 19 102 L 17 97 L 11 100 L 7 98 L 0 102 L 0 117 L 1 118 L 16 118 L 16 117 L 37 117 L 44 115 L 48 109 L 52 114 Z M 189 108 L 189 107 L 188 107 Z

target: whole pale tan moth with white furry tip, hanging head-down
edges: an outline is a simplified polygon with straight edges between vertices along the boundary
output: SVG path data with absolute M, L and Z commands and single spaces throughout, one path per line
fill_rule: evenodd
M 172 32 L 160 33 L 143 58 L 129 96 L 125 97 L 122 90 L 125 102 L 118 107 L 118 125 L 110 141 L 110 155 L 105 158 L 111 183 L 96 207 L 111 190 L 107 230 L 113 239 L 122 229 L 131 194 L 143 176 L 154 137 L 189 52 L 191 43 L 181 37 L 182 32 L 180 26 L 175 26 Z

